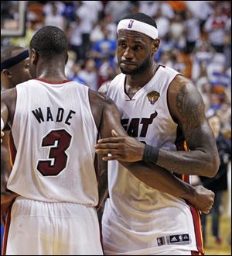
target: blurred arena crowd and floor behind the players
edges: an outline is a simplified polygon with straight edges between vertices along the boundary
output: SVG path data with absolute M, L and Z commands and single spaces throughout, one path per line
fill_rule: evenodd
M 97 90 L 119 72 L 115 58 L 118 21 L 128 13 L 145 12 L 157 22 L 162 42 L 155 61 L 192 79 L 203 96 L 206 116 L 217 113 L 221 133 L 230 140 L 230 5 L 230 1 L 2 1 L 1 47 L 28 48 L 37 29 L 58 26 L 69 39 L 67 78 Z M 220 240 L 211 235 L 207 216 L 206 255 L 231 254 L 231 161 L 226 175 Z M 197 184 L 199 178 L 193 181 Z

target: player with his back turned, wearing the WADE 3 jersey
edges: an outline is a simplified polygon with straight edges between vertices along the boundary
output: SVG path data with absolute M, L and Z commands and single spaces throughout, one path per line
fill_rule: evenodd
M 62 30 L 39 29 L 30 43 L 29 60 L 37 79 L 1 95 L 1 130 L 6 124 L 11 127 L 15 152 L 7 188 L 19 195 L 5 236 L 6 254 L 102 254 L 94 144 L 98 133 L 110 137 L 113 128 L 127 136 L 118 109 L 106 96 L 67 81 Z M 143 164 L 125 166 L 136 172 Z M 150 170 L 145 165 L 145 173 Z M 200 209 L 209 211 L 212 192 L 193 189 L 162 168 L 152 172 L 158 189 L 194 197 Z M 197 202 L 202 199 L 204 205 Z

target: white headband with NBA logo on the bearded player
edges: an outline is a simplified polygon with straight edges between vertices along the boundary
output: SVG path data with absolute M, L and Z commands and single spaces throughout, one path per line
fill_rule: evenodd
M 158 29 L 156 29 L 155 26 L 151 26 L 145 22 L 140 22 L 136 19 L 122 19 L 118 23 L 117 32 L 119 29 L 138 31 L 140 33 L 144 33 L 145 35 L 152 37 L 152 39 L 158 37 Z

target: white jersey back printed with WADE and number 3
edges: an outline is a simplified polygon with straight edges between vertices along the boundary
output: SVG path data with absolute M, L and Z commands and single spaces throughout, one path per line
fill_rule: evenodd
M 16 86 L 16 150 L 7 188 L 27 199 L 96 206 L 97 127 L 89 88 L 74 81 L 29 80 Z

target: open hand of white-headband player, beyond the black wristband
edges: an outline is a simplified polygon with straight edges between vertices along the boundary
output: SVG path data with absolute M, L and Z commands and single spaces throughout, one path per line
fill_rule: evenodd
M 129 136 L 118 137 L 118 133 L 115 130 L 112 130 L 111 133 L 112 137 L 98 140 L 95 146 L 97 154 L 110 154 L 107 157 L 103 157 L 102 160 L 125 162 L 142 160 L 145 144 Z

